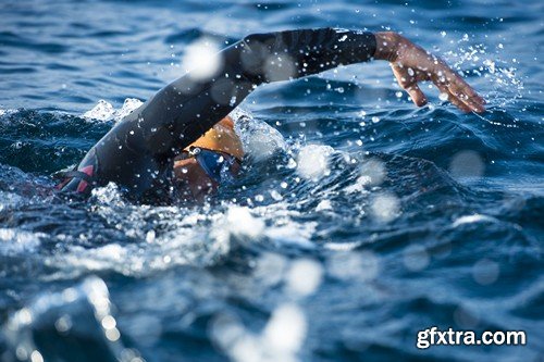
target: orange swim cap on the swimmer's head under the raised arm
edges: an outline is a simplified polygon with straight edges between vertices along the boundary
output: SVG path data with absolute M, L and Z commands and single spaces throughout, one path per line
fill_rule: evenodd
M 236 159 L 244 158 L 242 141 L 234 132 L 234 121 L 230 116 L 217 123 L 202 137 L 190 143 L 185 151 L 191 147 L 206 148 L 212 151 L 220 151 L 234 155 Z

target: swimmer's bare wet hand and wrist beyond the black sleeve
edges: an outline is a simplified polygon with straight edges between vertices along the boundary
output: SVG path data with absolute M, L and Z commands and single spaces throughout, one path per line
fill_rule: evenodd
M 396 33 L 375 33 L 375 38 L 374 58 L 391 63 L 398 84 L 416 105 L 426 104 L 426 97 L 418 83 L 431 80 L 460 110 L 485 112 L 485 100 L 440 58 Z

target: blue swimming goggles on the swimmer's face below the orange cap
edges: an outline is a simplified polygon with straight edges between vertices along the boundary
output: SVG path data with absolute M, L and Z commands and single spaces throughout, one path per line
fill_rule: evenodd
M 206 174 L 219 184 L 232 179 L 240 166 L 240 161 L 232 154 L 200 147 L 191 147 L 182 153 L 182 159 L 189 158 L 195 158 Z

